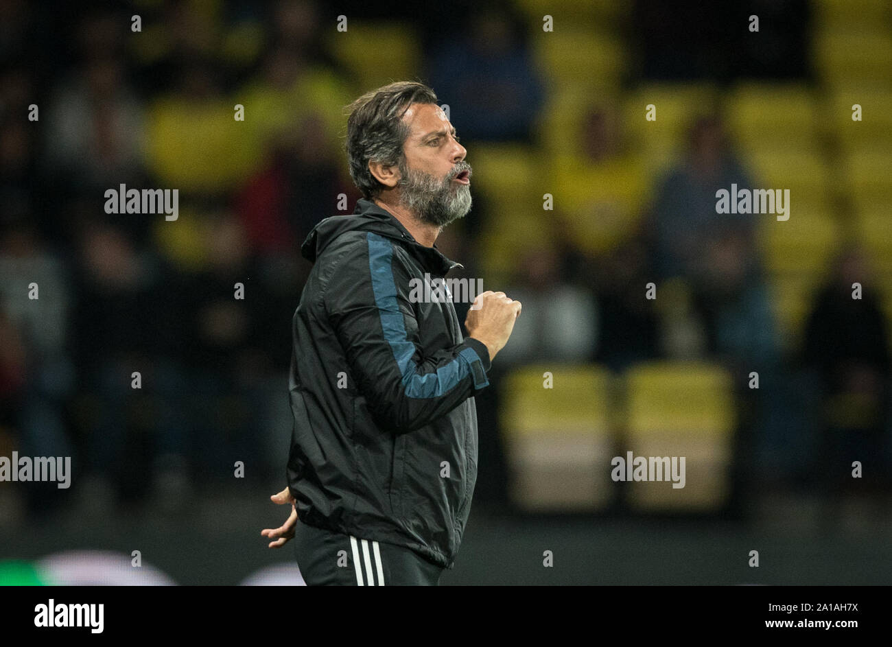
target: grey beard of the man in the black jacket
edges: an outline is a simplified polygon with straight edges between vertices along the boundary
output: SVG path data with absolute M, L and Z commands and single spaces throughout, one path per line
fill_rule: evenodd
M 444 180 L 438 180 L 421 170 L 410 170 L 400 163 L 400 204 L 414 213 L 418 220 L 443 228 L 453 220 L 464 218 L 471 211 L 471 187 L 452 179 L 470 164 L 459 162 Z

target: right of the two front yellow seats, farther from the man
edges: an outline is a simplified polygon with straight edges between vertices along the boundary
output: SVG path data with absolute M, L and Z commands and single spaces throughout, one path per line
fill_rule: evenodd
M 685 458 L 684 487 L 632 481 L 627 501 L 640 511 L 721 510 L 731 494 L 736 424 L 731 375 L 699 362 L 650 362 L 624 375 L 626 419 L 620 457 Z

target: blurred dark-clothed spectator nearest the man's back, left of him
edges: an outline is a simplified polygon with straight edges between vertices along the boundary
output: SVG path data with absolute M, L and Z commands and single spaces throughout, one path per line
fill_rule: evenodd
M 262 459 L 257 441 L 267 415 L 274 309 L 235 213 L 214 212 L 203 232 L 208 265 L 179 278 L 174 296 L 183 334 L 178 357 L 189 385 L 192 468 L 219 484 L 233 476 L 236 461 L 244 462 L 245 478 L 266 475 L 255 466 Z M 282 323 L 287 319 L 277 320 Z

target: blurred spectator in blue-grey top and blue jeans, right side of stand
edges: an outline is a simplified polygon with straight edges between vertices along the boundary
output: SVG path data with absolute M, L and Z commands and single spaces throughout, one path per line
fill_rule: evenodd
M 692 295 L 692 326 L 706 331 L 705 353 L 735 373 L 780 360 L 768 291 L 756 247 L 757 214 L 715 211 L 715 192 L 751 187 L 715 117 L 698 119 L 679 165 L 657 189 L 649 214 L 657 277 L 681 279 Z

